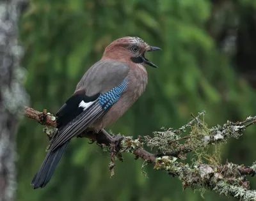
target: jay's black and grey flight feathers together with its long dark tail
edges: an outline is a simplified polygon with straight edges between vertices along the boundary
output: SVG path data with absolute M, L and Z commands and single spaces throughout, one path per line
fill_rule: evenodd
M 56 133 L 56 138 L 54 138 L 40 169 L 31 181 L 35 189 L 44 188 L 50 181 L 61 156 L 65 152 L 65 149 L 67 149 L 70 139 L 75 135 L 79 135 L 79 132 L 85 130 L 86 127 L 90 126 L 90 124 L 104 114 L 105 110 L 103 110 L 99 102 L 96 101 L 100 94 L 95 94 L 90 97 L 84 94 L 84 91 L 77 91 L 76 94 L 68 98 L 66 103 L 58 110 L 56 114 L 58 133 Z M 94 102 L 90 107 L 84 110 L 83 107 L 79 107 L 81 101 L 84 101 L 84 103 Z

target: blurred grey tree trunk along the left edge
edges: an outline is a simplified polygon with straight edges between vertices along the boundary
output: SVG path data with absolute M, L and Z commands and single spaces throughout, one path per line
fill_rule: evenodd
M 23 1 L 24 2 L 24 1 Z M 22 49 L 17 45 L 21 1 L 0 0 L 0 200 L 15 198 L 15 133 L 19 111 L 27 103 L 20 80 Z

